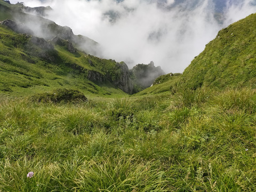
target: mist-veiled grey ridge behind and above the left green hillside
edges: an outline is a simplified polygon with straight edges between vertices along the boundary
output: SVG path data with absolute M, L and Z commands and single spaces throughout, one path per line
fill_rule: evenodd
M 17 33 L 22 33 L 26 30 L 26 33 L 29 35 L 34 35 L 37 37 L 50 40 L 56 36 L 59 36 L 63 39 L 69 40 L 74 44 L 79 50 L 82 50 L 86 53 L 92 55 L 100 55 L 101 47 L 100 45 L 82 35 L 74 35 L 72 29 L 67 26 L 59 26 L 55 22 L 44 19 L 40 17 L 41 14 L 44 14 L 44 11 L 50 9 L 50 7 L 26 7 L 23 4 L 8 4 L 4 1 L 0 1 L 0 21 L 6 19 L 13 20 L 20 24 L 19 28 L 12 28 Z M 34 10 L 34 11 L 33 11 Z M 28 13 L 37 13 L 36 15 Z M 35 27 L 36 26 L 36 27 Z

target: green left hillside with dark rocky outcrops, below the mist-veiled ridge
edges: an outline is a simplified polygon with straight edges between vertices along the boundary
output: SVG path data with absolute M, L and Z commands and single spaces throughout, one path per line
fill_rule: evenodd
M 60 37 L 47 42 L 0 25 L 0 49 L 0 91 L 5 94 L 24 96 L 60 87 L 87 94 L 129 93 L 127 66 L 78 51 Z

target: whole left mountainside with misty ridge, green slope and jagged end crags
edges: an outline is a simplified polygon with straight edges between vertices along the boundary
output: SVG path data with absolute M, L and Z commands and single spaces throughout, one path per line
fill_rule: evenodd
M 162 75 L 160 68 L 151 62 L 140 69 L 141 76 L 137 73 L 134 76 L 124 62 L 91 55 L 100 52 L 98 43 L 92 39 L 74 35 L 69 27 L 24 13 L 41 14 L 44 9 L 50 8 L 13 6 L 0 1 L 0 92 L 29 94 L 38 89 L 69 87 L 101 95 L 122 91 L 131 94 L 139 91 L 133 87 L 140 85 L 142 79 L 146 83 L 140 90 Z

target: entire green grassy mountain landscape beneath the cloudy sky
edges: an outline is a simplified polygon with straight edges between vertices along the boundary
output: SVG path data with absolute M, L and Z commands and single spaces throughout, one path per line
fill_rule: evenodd
M 25 5 L 0 0 L 0 192 L 256 191 L 256 13 L 165 74 Z

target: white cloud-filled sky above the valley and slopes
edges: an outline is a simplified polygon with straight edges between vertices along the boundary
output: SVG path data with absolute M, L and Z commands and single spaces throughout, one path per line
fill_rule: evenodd
M 214 19 L 218 0 L 22 2 L 51 6 L 46 18 L 100 43 L 102 58 L 125 61 L 129 68 L 154 61 L 165 73 L 182 73 L 220 29 L 256 12 L 256 0 L 223 1 L 221 23 Z

